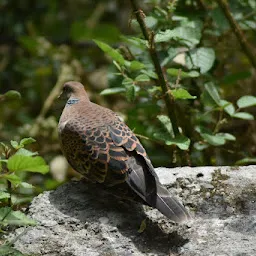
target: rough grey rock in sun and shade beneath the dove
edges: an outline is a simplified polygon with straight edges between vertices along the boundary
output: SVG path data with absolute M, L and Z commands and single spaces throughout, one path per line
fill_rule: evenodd
M 190 208 L 190 223 L 72 181 L 33 200 L 29 215 L 38 225 L 18 228 L 15 247 L 45 256 L 256 255 L 256 166 L 156 171 Z

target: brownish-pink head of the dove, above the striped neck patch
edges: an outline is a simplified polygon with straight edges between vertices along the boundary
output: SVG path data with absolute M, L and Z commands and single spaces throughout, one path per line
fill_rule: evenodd
M 84 86 L 81 83 L 75 81 L 66 82 L 63 85 L 62 92 L 59 95 L 59 98 L 65 100 L 89 100 Z

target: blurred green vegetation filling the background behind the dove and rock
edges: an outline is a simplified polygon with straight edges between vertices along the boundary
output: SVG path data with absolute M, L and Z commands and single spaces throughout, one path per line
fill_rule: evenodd
M 56 96 L 69 80 L 118 112 L 155 166 L 256 162 L 255 0 L 0 0 L 0 8 L 1 157 L 33 137 L 30 150 L 50 164 L 47 175 L 22 174 L 36 185 L 27 197 L 77 177 L 56 129 L 65 104 Z

